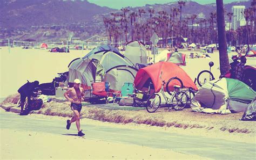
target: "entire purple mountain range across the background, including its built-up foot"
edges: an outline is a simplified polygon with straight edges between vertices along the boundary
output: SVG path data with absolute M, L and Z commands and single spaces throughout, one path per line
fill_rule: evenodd
M 227 12 L 231 12 L 233 5 L 245 5 L 248 8 L 251 2 L 233 2 L 225 4 Z M 170 12 L 178 8 L 177 2 L 167 4 L 145 5 L 129 8 L 131 11 L 150 8 L 158 11 Z M 183 7 L 183 16 L 197 14 L 208 18 L 216 10 L 215 4 L 201 5 L 196 2 L 187 2 Z M 0 1 L 0 39 L 24 40 L 27 38 L 40 40 L 58 40 L 73 37 L 81 39 L 92 35 L 105 34 L 103 17 L 109 17 L 111 12 L 120 10 L 110 9 L 87 2 L 87 0 L 1 0 Z M 149 13 L 143 14 L 149 18 Z

